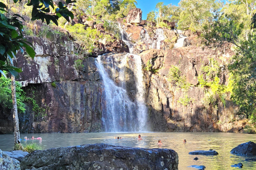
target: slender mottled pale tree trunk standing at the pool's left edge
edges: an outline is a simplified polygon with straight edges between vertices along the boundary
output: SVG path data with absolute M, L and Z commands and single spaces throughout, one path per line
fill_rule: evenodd
M 14 145 L 20 144 L 20 128 L 19 128 L 19 118 L 16 100 L 16 87 L 15 87 L 15 77 L 12 75 L 12 105 L 13 105 L 13 124 L 14 124 Z

